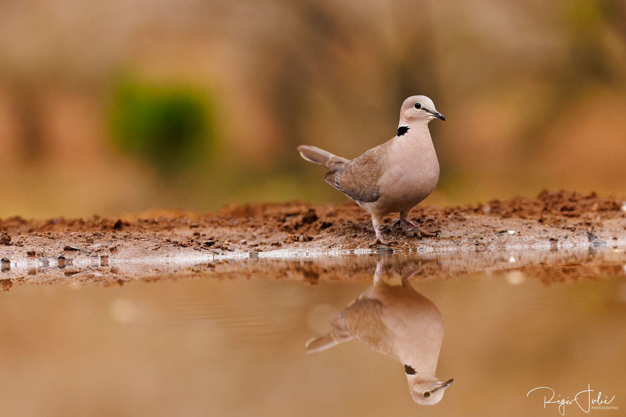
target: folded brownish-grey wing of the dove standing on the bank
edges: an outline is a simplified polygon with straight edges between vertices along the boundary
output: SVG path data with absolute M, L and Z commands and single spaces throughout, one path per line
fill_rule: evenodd
M 326 182 L 353 200 L 371 203 L 381 197 L 378 182 L 382 176 L 386 150 L 372 148 L 360 157 L 344 163 L 341 169 L 326 173 Z

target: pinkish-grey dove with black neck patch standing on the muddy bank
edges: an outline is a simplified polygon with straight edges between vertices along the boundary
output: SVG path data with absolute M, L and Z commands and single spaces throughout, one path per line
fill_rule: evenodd
M 376 238 L 391 244 L 381 234 L 384 216 L 399 213 L 404 227 L 421 236 L 436 236 L 408 219 L 409 211 L 433 192 L 439 180 L 439 162 L 428 123 L 446 120 L 426 96 L 411 96 L 400 109 L 398 133 L 391 140 L 352 160 L 326 150 L 300 145 L 300 156 L 324 165 L 326 182 L 346 194 L 372 216 Z

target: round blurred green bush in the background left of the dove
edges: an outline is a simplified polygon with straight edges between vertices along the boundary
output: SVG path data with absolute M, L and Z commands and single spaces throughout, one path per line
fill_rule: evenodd
M 190 86 L 122 81 L 109 120 L 115 145 L 162 175 L 192 166 L 215 142 L 212 101 Z

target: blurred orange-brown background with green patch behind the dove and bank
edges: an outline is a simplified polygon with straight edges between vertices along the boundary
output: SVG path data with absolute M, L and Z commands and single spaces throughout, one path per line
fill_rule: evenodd
M 622 0 L 0 1 L 0 216 L 344 202 L 428 95 L 429 203 L 626 194 Z

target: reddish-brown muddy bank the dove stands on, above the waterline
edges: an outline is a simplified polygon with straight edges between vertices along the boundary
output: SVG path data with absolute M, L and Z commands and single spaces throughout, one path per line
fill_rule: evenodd
M 449 252 L 587 247 L 588 231 L 608 244 L 626 243 L 626 204 L 592 193 L 542 192 L 536 198 L 458 207 L 417 207 L 410 216 L 439 237 L 408 237 L 398 217 L 384 234 L 395 250 Z M 354 204 L 302 202 L 228 206 L 211 214 L 146 212 L 109 219 L 0 220 L 0 257 L 121 257 L 136 259 L 247 256 L 249 252 L 316 253 L 371 250 L 369 215 Z

